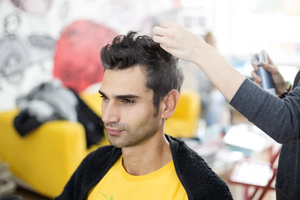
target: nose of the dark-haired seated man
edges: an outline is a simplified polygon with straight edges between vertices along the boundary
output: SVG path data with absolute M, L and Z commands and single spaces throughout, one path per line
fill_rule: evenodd
M 102 109 L 102 121 L 104 123 L 118 122 L 120 120 L 120 110 L 113 101 L 109 101 Z

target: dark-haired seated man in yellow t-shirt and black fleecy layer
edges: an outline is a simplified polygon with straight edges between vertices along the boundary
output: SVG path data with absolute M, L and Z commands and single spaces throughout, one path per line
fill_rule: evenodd
M 164 134 L 182 83 L 178 59 L 129 32 L 103 47 L 101 60 L 102 120 L 111 145 L 84 158 L 56 199 L 232 199 L 197 153 Z

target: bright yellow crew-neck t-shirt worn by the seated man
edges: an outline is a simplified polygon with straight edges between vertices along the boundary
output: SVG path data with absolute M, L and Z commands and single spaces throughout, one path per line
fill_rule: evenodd
M 173 160 L 145 175 L 126 172 L 120 157 L 89 191 L 87 200 L 185 200 L 187 194 L 175 172 Z

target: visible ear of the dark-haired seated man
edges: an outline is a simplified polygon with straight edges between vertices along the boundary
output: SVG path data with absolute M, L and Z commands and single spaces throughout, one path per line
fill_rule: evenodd
M 169 118 L 173 115 L 177 102 L 179 99 L 179 92 L 175 89 L 172 89 L 168 92 L 166 96 L 162 99 L 162 112 L 161 118 Z

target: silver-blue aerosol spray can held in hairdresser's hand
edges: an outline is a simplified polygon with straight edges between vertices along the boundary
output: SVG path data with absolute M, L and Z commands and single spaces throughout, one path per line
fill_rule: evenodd
M 263 51 L 263 52 L 254 54 L 252 57 L 252 61 L 254 64 L 256 64 L 258 66 L 258 70 L 256 71 L 256 73 L 261 78 L 261 83 L 260 83 L 261 88 L 270 92 L 273 95 L 276 95 L 274 81 L 273 81 L 273 78 L 272 78 L 270 72 L 265 70 L 260 65 L 261 62 L 268 63 L 266 52 Z

